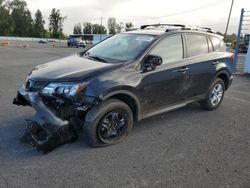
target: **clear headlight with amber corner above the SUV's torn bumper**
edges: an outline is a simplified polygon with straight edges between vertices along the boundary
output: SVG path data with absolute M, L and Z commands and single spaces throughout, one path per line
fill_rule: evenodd
M 48 96 L 60 95 L 72 97 L 86 88 L 87 82 L 84 83 L 49 83 L 42 90 L 42 94 Z

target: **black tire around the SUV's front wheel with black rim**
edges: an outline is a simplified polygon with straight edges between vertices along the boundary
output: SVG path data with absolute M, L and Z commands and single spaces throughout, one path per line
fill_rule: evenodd
M 105 140 L 102 138 L 102 135 L 100 133 L 100 131 L 102 130 L 101 128 L 103 128 L 103 125 L 101 123 L 104 122 L 103 119 L 106 116 L 113 112 L 119 112 L 124 117 L 122 134 L 116 139 Z M 127 104 L 117 99 L 108 99 L 107 101 L 104 101 L 91 108 L 86 115 L 84 124 L 84 130 L 86 132 L 88 142 L 93 147 L 109 146 L 121 142 L 131 132 L 132 127 L 133 113 L 131 109 Z M 106 133 L 107 132 L 108 131 L 106 130 Z

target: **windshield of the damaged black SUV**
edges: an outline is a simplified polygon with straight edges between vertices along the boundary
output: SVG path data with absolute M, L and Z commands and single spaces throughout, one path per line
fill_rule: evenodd
M 84 57 L 103 62 L 120 63 L 134 60 L 155 39 L 152 35 L 117 34 L 88 50 Z

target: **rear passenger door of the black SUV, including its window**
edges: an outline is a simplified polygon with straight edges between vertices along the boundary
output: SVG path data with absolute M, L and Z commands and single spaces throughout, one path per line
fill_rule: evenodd
M 206 93 L 215 73 L 218 60 L 210 38 L 205 34 L 186 33 L 187 63 L 190 67 L 190 90 L 187 97 Z M 215 52 L 216 53 L 216 52 Z

